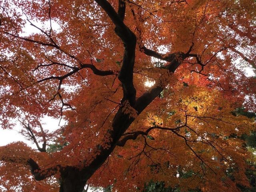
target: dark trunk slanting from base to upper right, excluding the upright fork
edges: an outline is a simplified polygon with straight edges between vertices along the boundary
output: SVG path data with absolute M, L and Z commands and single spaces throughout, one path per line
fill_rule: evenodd
M 182 63 L 185 58 L 184 53 L 179 53 L 181 60 L 174 58 L 172 62 L 166 66 L 166 69 L 170 72 L 174 72 L 178 66 Z M 163 90 L 161 86 L 155 85 L 152 90 L 146 92 L 144 95 L 137 99 L 134 109 L 140 114 L 148 104 L 154 100 Z M 127 130 L 127 128 L 134 121 L 134 117 L 130 117 L 129 114 L 123 112 L 123 107 L 121 106 L 117 111 L 112 128 L 108 130 L 110 139 L 108 142 L 109 148 L 101 148 L 100 154 L 82 170 L 78 170 L 74 167 L 65 168 L 61 174 L 62 182 L 60 185 L 60 192 L 82 192 L 87 180 L 94 174 L 94 172 L 105 162 L 108 156 L 112 153 L 118 140 L 121 138 L 122 134 Z M 108 138 L 106 140 L 108 140 Z

